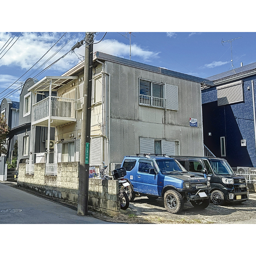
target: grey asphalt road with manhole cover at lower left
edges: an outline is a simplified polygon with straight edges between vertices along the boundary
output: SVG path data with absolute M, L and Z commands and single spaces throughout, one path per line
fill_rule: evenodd
M 92 216 L 78 216 L 76 210 L 0 182 L 0 224 L 111 224 L 111 222 Z

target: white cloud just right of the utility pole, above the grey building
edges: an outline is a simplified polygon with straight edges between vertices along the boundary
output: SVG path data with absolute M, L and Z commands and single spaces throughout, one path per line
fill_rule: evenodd
M 104 52 L 106 54 L 111 54 L 117 57 L 129 57 L 130 56 L 130 45 L 118 42 L 115 39 L 106 39 L 99 44 L 94 44 L 94 52 Z M 151 58 L 158 57 L 160 52 L 152 52 L 144 50 L 137 44 L 131 45 L 131 55 L 138 56 L 144 61 L 150 61 Z

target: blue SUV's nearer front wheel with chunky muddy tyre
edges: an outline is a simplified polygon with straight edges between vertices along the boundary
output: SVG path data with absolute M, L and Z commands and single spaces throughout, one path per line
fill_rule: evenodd
M 170 213 L 178 213 L 184 208 L 182 195 L 176 190 L 167 190 L 164 193 L 164 207 Z

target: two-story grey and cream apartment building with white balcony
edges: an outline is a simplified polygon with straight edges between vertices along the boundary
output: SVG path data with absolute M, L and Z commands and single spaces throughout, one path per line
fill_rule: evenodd
M 101 52 L 94 54 L 93 66 L 91 166 L 104 161 L 113 169 L 136 153 L 204 154 L 200 86 L 212 82 Z M 31 133 L 38 126 L 55 128 L 45 144 L 46 174 L 56 175 L 58 162 L 80 159 L 83 80 L 81 62 L 28 88 Z M 48 96 L 38 99 L 39 94 Z

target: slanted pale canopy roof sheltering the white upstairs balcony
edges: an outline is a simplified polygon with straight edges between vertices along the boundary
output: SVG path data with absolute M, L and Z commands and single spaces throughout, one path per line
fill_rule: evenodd
M 64 86 L 71 82 L 73 79 L 77 79 L 78 76 L 45 76 L 43 79 L 38 81 L 36 84 L 31 86 L 28 89 L 28 92 L 31 91 L 40 91 L 45 92 L 49 91 L 50 80 L 52 81 L 52 91 L 58 90 L 61 86 Z

